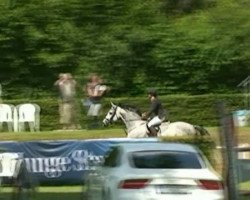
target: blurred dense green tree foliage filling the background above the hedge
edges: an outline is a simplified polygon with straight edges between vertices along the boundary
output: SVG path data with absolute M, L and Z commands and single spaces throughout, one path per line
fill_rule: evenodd
M 4 0 L 1 82 L 49 93 L 60 72 L 80 84 L 98 72 L 114 95 L 233 91 L 250 70 L 249 8 L 245 0 Z

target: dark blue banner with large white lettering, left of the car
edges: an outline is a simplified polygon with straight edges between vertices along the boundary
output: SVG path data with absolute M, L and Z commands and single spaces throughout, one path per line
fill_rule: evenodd
M 84 173 L 103 161 L 112 145 L 150 142 L 147 139 L 93 139 L 71 141 L 0 142 L 0 149 L 20 154 L 33 180 L 39 184 L 82 184 Z

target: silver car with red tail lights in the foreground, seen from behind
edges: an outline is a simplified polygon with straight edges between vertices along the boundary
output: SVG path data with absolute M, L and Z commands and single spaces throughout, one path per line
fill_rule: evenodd
M 85 180 L 88 200 L 224 199 L 220 176 L 188 144 L 118 144 Z

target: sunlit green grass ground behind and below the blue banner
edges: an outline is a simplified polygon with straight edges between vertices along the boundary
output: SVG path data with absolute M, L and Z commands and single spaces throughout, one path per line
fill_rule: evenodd
M 207 127 L 211 137 L 220 145 L 218 127 Z M 250 144 L 250 127 L 236 129 L 239 143 Z M 100 129 L 100 130 L 80 130 L 80 131 L 47 131 L 47 132 L 21 132 L 21 133 L 0 133 L 0 141 L 37 141 L 37 140 L 85 140 L 97 138 L 119 138 L 125 137 L 124 130 Z M 241 184 L 241 189 L 249 190 L 250 182 Z M 61 186 L 61 187 L 39 187 L 32 200 L 80 200 L 81 186 Z M 2 188 L 0 190 L 0 200 L 11 199 L 12 189 Z M 250 200 L 250 197 L 242 197 L 240 200 Z

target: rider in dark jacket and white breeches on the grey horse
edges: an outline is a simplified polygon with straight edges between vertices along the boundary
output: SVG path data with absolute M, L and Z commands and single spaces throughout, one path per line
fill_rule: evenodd
M 161 123 L 165 120 L 165 109 L 163 108 L 161 101 L 157 97 L 157 92 L 154 89 L 150 89 L 148 91 L 148 98 L 151 102 L 150 109 L 148 112 L 142 114 L 142 118 L 148 118 L 149 121 L 147 123 L 147 127 L 150 131 L 150 137 L 157 136 L 156 126 L 161 125 Z

